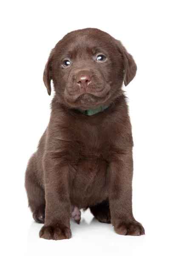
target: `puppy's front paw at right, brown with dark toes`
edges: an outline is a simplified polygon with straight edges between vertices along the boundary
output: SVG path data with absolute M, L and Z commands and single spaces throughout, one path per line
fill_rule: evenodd
M 114 226 L 114 230 L 119 235 L 127 236 L 141 236 L 144 235 L 144 227 L 137 221 L 132 221 L 129 223 L 122 222 Z

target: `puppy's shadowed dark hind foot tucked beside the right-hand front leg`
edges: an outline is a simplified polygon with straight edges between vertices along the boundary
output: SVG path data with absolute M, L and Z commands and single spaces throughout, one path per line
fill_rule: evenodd
M 102 203 L 90 206 L 90 210 L 98 221 L 104 223 L 111 223 L 111 212 L 108 200 L 104 200 L 102 201 Z

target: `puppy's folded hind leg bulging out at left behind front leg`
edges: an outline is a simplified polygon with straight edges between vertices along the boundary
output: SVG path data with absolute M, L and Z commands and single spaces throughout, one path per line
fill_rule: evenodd
M 33 218 L 39 223 L 45 220 L 45 192 L 37 178 L 36 156 L 32 155 L 28 162 L 25 176 L 25 187 L 28 196 L 28 206 L 33 212 Z

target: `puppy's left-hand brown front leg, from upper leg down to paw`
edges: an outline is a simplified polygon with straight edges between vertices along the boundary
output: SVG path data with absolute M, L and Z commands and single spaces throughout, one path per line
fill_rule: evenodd
M 69 166 L 59 161 L 48 157 L 44 163 L 45 224 L 39 233 L 44 239 L 71 238 Z

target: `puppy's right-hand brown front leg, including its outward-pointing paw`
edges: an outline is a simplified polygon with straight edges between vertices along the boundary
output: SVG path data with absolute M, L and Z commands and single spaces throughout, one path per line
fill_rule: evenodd
M 135 220 L 132 212 L 132 152 L 116 153 L 108 173 L 111 224 L 114 230 L 120 235 L 144 235 L 142 224 Z

